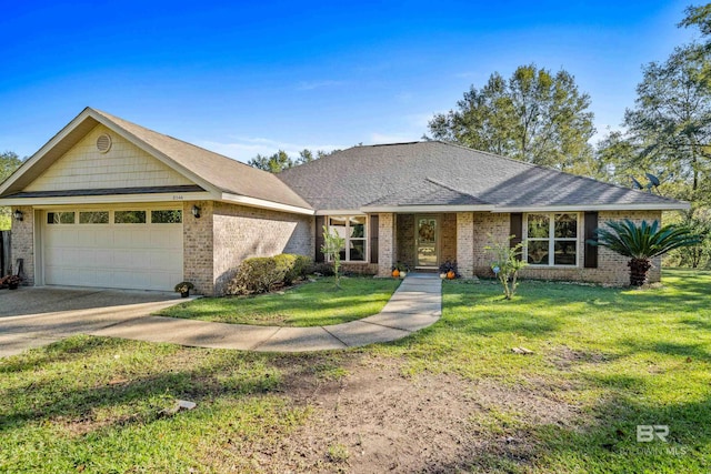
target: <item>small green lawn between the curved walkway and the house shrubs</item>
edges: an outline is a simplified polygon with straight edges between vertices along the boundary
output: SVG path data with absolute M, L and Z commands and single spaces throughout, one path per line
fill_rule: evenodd
M 331 325 L 377 314 L 398 285 L 399 281 L 391 279 L 343 278 L 339 290 L 332 278 L 321 278 L 281 293 L 203 297 L 169 307 L 160 314 L 238 324 Z

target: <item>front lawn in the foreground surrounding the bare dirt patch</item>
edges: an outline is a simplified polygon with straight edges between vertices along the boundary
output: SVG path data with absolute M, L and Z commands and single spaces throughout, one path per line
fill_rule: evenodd
M 471 414 L 489 446 L 463 460 L 471 472 L 711 470 L 711 272 L 664 271 L 664 285 L 644 291 L 524 281 L 505 301 L 483 281 L 445 282 L 443 294 L 437 324 L 344 352 L 74 336 L 2 359 L 0 472 L 253 472 L 254 456 L 319 410 L 316 394 L 314 405 L 296 403 L 289 381 L 348 381 L 364 355 L 404 361 L 413 396 L 417 379 L 432 374 L 463 380 L 464 396 L 503 387 Z M 503 403 L 509 393 L 515 403 Z M 179 399 L 198 406 L 167 415 Z M 549 406 L 565 409 L 558 422 Z M 638 443 L 640 424 L 669 425 L 669 443 Z M 324 455 L 336 470 L 350 451 L 334 438 Z

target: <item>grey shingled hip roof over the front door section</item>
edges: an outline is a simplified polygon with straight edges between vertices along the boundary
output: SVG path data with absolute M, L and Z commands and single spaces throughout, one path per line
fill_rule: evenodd
M 317 210 L 412 205 L 513 211 L 688 203 L 441 141 L 354 147 L 278 174 Z

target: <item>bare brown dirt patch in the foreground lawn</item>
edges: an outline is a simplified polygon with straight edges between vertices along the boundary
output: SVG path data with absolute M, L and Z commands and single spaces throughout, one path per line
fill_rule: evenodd
M 312 415 L 277 446 L 253 446 L 268 455 L 252 466 L 273 473 L 525 470 L 538 451 L 530 426 L 568 425 L 579 416 L 551 386 L 407 377 L 401 365 L 362 355 L 343 363 L 340 377 L 289 374 L 283 393 Z

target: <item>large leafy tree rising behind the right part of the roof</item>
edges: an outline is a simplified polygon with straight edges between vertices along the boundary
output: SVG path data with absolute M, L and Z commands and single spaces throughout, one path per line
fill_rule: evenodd
M 509 80 L 494 72 L 471 85 L 457 110 L 429 122 L 432 135 L 477 150 L 564 171 L 591 167 L 594 134 L 590 97 L 564 70 L 552 74 L 534 64 L 519 67 Z

